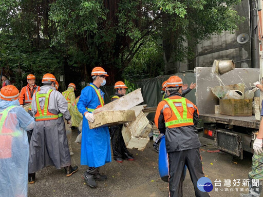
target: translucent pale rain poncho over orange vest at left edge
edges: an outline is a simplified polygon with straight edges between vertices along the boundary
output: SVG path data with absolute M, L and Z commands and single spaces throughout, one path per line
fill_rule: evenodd
M 0 99 L 0 196 L 27 196 L 28 138 L 35 122 L 18 100 Z M 14 106 L 6 114 L 8 107 Z M 6 114 L 6 117 L 5 117 Z

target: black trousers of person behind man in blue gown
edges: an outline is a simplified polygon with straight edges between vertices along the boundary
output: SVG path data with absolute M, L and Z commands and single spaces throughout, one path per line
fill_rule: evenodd
M 116 125 L 110 127 L 111 147 L 113 152 L 113 159 L 126 159 L 127 156 L 133 156 L 125 145 L 123 136 L 121 133 L 122 125 Z

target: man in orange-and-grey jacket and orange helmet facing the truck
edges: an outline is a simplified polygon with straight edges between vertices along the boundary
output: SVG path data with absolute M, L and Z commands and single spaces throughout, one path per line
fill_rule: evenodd
M 197 181 L 204 177 L 196 129 L 199 112 L 197 107 L 181 96 L 182 80 L 171 76 L 167 80 L 168 98 L 158 104 L 155 124 L 165 134 L 169 166 L 169 194 L 182 196 L 184 165 L 187 166 L 196 196 L 210 196 L 197 188 Z

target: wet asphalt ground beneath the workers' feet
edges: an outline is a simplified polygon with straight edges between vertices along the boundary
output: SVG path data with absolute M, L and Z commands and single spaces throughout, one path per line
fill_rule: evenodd
M 200 133 L 201 135 L 201 133 Z M 124 161 L 119 164 L 112 159 L 101 167 L 100 172 L 108 176 L 108 180 L 97 182 L 98 187 L 88 187 L 82 179 L 87 166 L 80 165 L 81 144 L 73 143 L 77 132 L 72 132 L 71 156 L 72 165 L 78 165 L 79 170 L 67 177 L 64 169 L 57 170 L 54 167 L 46 167 L 36 173 L 36 182 L 28 186 L 29 197 L 39 196 L 135 196 L 135 197 L 167 197 L 168 184 L 160 179 L 158 172 L 158 153 L 153 149 L 151 140 L 144 151 L 130 150 L 134 154 L 135 161 Z M 238 196 L 240 190 L 247 193 L 248 187 L 242 186 L 242 180 L 248 179 L 251 167 L 252 154 L 245 154 L 245 159 L 235 159 L 224 152 L 208 152 L 217 150 L 215 142 L 200 136 L 201 156 L 204 174 L 212 181 L 214 189 L 211 196 Z M 233 181 L 240 179 L 239 187 L 233 186 Z M 221 187 L 215 187 L 214 181 L 221 181 Z M 224 180 L 230 180 L 224 183 Z M 224 186 L 224 184 L 226 184 Z M 237 185 L 237 184 L 236 184 Z M 218 191 L 215 191 L 218 188 Z M 227 191 L 228 190 L 228 191 Z M 236 191 L 238 190 L 238 191 Z M 194 187 L 189 172 L 183 182 L 183 196 L 195 196 Z

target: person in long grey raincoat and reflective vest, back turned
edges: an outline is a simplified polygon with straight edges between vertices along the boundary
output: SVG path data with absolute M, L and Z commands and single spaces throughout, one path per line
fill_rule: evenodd
M 55 90 L 53 74 L 44 74 L 43 86 L 33 95 L 31 111 L 35 117 L 35 127 L 29 145 L 29 183 L 34 183 L 35 172 L 45 166 L 64 167 L 66 176 L 78 170 L 71 166 L 65 124 L 62 114 L 71 124 L 67 101 Z

